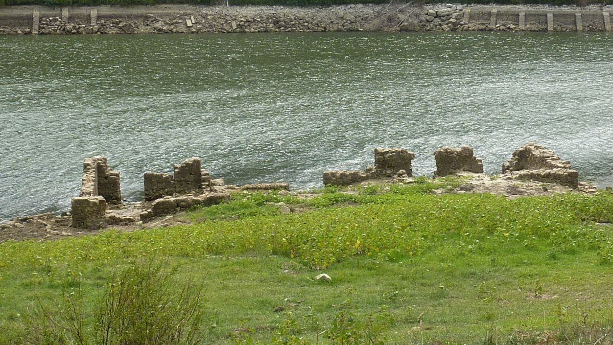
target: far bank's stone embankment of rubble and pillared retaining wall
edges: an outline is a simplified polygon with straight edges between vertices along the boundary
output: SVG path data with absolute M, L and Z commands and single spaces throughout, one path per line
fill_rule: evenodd
M 611 31 L 611 6 L 0 7 L 0 34 Z

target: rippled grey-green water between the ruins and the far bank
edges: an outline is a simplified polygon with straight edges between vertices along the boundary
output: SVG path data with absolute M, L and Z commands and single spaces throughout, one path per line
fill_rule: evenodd
M 613 36 L 211 34 L 0 37 L 0 218 L 69 207 L 82 160 L 124 196 L 201 157 L 233 184 L 321 184 L 373 148 L 475 148 L 500 171 L 528 141 L 613 181 Z

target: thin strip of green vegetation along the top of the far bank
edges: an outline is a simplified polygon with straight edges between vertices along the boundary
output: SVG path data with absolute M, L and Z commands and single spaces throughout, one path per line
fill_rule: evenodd
M 389 0 L 229 0 L 230 6 L 265 5 L 265 6 L 329 6 L 340 4 L 387 4 Z M 156 4 L 194 4 L 218 5 L 225 4 L 221 0 L 0 0 L 0 6 L 10 5 L 43 5 L 43 6 L 131 6 Z M 417 2 L 414 2 L 417 3 Z M 447 2 L 427 0 L 427 4 L 446 4 Z M 613 0 L 472 0 L 470 4 L 552 4 L 577 5 L 613 4 Z

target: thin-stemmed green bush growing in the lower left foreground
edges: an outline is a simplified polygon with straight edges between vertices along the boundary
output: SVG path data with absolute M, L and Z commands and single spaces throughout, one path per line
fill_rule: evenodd
M 117 269 L 86 304 L 82 285 L 65 290 L 53 309 L 38 301 L 27 321 L 35 344 L 199 344 L 201 290 L 177 285 L 177 267 L 139 261 Z M 177 286 L 178 287 L 177 289 Z M 87 308 L 86 306 L 91 306 Z

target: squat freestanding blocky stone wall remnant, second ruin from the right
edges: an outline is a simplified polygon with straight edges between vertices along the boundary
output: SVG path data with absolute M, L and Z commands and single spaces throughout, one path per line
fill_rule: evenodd
M 436 171 L 434 176 L 447 176 L 459 171 L 483 172 L 481 158 L 474 157 L 472 147 L 441 147 L 434 152 Z

